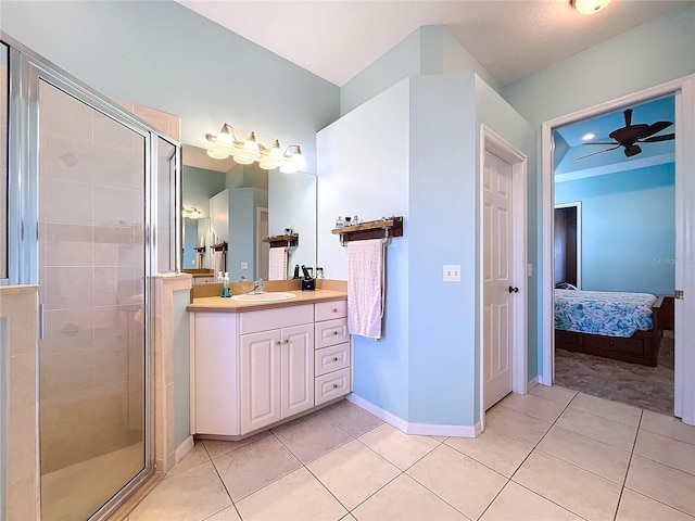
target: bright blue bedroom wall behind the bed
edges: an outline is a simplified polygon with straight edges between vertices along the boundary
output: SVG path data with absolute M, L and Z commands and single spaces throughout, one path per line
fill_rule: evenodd
M 673 294 L 674 164 L 555 185 L 582 203 L 582 289 Z

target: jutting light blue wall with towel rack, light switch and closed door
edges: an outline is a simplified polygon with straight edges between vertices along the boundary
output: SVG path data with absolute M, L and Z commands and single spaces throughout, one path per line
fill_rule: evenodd
M 412 423 L 479 420 L 482 123 L 527 153 L 533 168 L 532 128 L 473 74 L 404 79 L 318 135 L 319 156 L 330 157 L 319 163 L 318 198 L 319 263 L 330 277 L 346 277 L 345 253 L 330 236 L 336 214 L 405 218 L 404 237 L 388 247 L 387 335 L 354 338 L 354 391 Z M 375 143 L 375 135 L 388 140 Z M 462 266 L 460 283 L 442 281 L 444 264 Z

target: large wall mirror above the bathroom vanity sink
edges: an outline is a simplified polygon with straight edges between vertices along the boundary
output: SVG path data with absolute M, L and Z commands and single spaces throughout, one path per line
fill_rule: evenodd
M 292 278 L 295 265 L 314 266 L 316 176 L 213 160 L 187 144 L 181 155 L 184 270 L 214 276 L 224 266 L 232 281 L 276 280 Z M 288 231 L 298 236 L 296 245 L 270 252 L 263 239 Z

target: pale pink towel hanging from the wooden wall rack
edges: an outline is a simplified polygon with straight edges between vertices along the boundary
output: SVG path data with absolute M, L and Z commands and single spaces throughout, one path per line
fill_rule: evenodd
M 351 334 L 381 338 L 384 257 L 381 239 L 348 243 L 348 328 Z

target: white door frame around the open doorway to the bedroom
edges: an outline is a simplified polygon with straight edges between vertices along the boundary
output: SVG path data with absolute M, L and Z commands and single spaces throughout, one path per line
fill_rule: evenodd
M 542 204 L 542 372 L 540 383 L 552 385 L 555 379 L 555 338 L 553 313 L 553 229 L 554 163 L 553 129 L 620 110 L 664 96 L 675 98 L 675 288 L 685 298 L 675 301 L 675 383 L 674 415 L 684 423 L 695 424 L 695 74 L 648 89 L 582 109 L 541 125 L 541 204 Z M 680 225 L 680 226 L 679 226 Z

